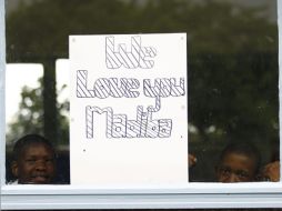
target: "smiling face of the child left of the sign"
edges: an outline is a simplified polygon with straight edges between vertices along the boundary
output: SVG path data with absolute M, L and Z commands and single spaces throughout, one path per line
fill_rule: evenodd
M 12 164 L 12 173 L 22 184 L 52 183 L 54 171 L 54 154 L 43 143 L 28 145 L 19 155 L 18 161 Z

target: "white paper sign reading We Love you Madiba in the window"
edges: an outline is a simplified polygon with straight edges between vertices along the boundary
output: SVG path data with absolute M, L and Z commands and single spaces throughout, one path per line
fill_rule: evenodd
M 188 182 L 187 36 L 70 36 L 71 184 Z

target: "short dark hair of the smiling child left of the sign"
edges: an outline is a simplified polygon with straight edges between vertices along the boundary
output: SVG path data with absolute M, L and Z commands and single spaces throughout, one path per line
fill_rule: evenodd
M 23 150 L 26 150 L 29 145 L 38 143 L 46 144 L 47 147 L 49 147 L 53 152 L 53 155 L 56 157 L 56 151 L 52 143 L 48 141 L 44 137 L 40 134 L 27 134 L 16 142 L 13 147 L 13 160 L 17 161 L 20 154 L 23 152 Z

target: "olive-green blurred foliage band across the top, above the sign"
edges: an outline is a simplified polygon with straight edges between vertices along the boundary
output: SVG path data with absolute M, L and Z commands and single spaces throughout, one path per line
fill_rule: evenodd
M 276 51 L 265 8 L 195 2 L 34 0 L 7 17 L 8 61 L 68 58 L 69 34 L 187 32 L 190 54 Z

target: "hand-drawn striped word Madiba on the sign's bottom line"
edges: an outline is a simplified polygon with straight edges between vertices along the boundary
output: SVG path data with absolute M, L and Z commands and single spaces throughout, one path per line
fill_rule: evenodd
M 152 109 L 143 111 L 143 107 L 137 108 L 137 119 L 128 120 L 125 114 L 113 114 L 112 108 L 90 107 L 85 108 L 87 138 L 92 139 L 94 128 L 94 113 L 105 114 L 107 138 L 169 138 L 172 130 L 171 119 L 152 119 Z

